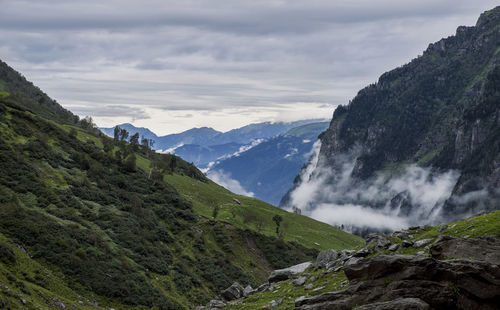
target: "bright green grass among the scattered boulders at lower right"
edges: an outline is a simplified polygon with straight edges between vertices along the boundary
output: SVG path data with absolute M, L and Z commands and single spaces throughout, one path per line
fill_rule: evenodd
M 471 227 L 472 226 L 472 227 Z M 437 226 L 420 227 L 412 230 L 414 237 L 412 240 L 421 240 L 426 238 L 436 238 L 440 234 L 453 237 L 480 237 L 493 235 L 500 238 L 500 210 L 494 211 L 485 215 L 474 216 L 468 219 L 448 223 L 448 228 L 442 232 L 437 231 Z M 401 242 L 399 238 L 394 238 L 394 241 Z M 413 247 L 400 249 L 396 254 L 415 255 L 418 251 L 424 251 L 424 255 L 428 255 L 428 249 Z M 394 254 L 390 251 L 379 252 L 375 255 Z M 305 290 L 304 286 L 294 286 L 293 279 L 279 282 L 279 288 L 272 291 L 259 292 L 251 297 L 244 299 L 243 303 L 231 305 L 225 309 L 261 309 L 263 306 L 270 304 L 272 300 L 282 299 L 283 303 L 273 309 L 293 309 L 294 301 L 300 296 L 312 297 L 325 292 L 338 291 L 346 289 L 349 286 L 348 280 L 343 272 L 326 273 L 325 268 L 314 270 L 310 267 L 300 276 L 308 278 L 306 284 L 312 284 L 312 290 Z M 311 277 L 313 277 L 311 279 Z

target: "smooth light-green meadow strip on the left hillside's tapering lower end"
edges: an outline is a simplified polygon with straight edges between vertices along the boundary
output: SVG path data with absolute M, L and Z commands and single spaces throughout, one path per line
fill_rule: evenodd
M 275 236 L 276 224 L 272 218 L 283 217 L 280 230 L 286 241 L 295 241 L 309 248 L 345 249 L 363 243 L 363 239 L 343 232 L 331 225 L 303 215 L 287 212 L 255 198 L 233 194 L 212 181 L 203 183 L 181 175 L 166 175 L 166 181 L 193 203 L 196 214 L 212 218 L 214 206 L 219 206 L 217 220 L 241 229 L 250 229 Z M 237 199 L 241 204 L 236 203 Z

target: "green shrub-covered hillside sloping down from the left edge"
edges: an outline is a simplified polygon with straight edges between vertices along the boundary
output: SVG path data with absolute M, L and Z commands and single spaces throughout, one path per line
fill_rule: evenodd
M 0 84 L 2 308 L 192 309 L 360 243 L 106 137 L 11 68 Z

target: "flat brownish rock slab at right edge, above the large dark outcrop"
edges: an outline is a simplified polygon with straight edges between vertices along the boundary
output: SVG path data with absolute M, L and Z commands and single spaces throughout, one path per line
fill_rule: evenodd
M 494 237 L 452 238 L 442 236 L 430 249 L 432 257 L 473 258 L 500 265 L 500 240 Z

